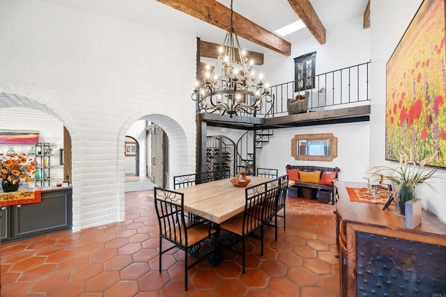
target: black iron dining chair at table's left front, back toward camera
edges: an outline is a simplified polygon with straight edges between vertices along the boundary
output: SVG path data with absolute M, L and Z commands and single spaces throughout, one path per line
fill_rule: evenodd
M 162 254 L 173 248 L 179 248 L 185 252 L 184 280 L 187 291 L 187 271 L 215 250 L 215 246 L 204 255 L 200 255 L 201 243 L 210 239 L 215 234 L 215 229 L 210 223 L 203 221 L 186 221 L 184 214 L 184 194 L 170 191 L 165 188 L 155 187 L 155 210 L 160 225 L 160 273 L 162 269 Z M 174 246 L 162 250 L 162 240 L 165 239 Z M 188 255 L 196 259 L 188 263 Z

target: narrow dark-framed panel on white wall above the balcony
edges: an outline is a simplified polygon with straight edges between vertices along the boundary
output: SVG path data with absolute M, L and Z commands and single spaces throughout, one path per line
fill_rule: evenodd
M 294 91 L 314 88 L 316 51 L 294 58 Z

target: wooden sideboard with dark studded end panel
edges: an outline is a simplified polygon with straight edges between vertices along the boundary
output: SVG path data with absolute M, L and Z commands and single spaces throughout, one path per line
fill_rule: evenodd
M 393 205 L 350 201 L 346 187 L 367 184 L 334 185 L 341 296 L 446 296 L 445 223 L 422 211 L 406 229 Z

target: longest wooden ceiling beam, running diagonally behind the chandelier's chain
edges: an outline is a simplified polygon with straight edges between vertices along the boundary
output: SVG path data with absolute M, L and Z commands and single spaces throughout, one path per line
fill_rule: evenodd
M 157 0 L 171 8 L 187 13 L 192 17 L 213 24 L 220 29 L 229 31 L 231 26 L 231 9 L 215 0 Z M 291 44 L 279 36 L 263 29 L 258 24 L 233 12 L 233 26 L 236 34 L 246 40 L 277 51 L 284 56 L 291 55 Z

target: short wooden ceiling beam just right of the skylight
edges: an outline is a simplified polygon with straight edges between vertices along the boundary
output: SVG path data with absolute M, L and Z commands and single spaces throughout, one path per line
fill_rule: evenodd
M 309 31 L 313 34 L 314 38 L 323 45 L 325 43 L 325 27 L 323 26 L 321 19 L 314 11 L 312 3 L 309 0 L 288 0 L 291 8 Z

